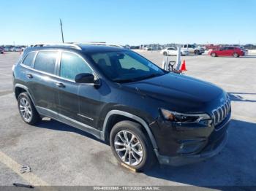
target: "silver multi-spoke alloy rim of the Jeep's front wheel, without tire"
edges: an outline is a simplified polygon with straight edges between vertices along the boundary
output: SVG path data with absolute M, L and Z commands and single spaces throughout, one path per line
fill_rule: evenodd
M 123 163 L 138 165 L 143 159 L 143 148 L 139 139 L 129 130 L 121 130 L 115 137 L 115 150 Z

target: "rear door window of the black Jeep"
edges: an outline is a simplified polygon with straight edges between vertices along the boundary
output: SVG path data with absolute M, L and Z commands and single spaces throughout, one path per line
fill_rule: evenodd
M 38 52 L 36 61 L 34 61 L 34 69 L 54 74 L 57 55 L 56 51 Z

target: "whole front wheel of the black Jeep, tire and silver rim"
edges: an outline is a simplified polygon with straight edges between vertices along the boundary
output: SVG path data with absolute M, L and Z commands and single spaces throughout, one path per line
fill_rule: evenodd
M 110 132 L 110 146 L 120 163 L 136 171 L 145 171 L 155 161 L 151 142 L 141 130 L 141 125 L 132 121 L 121 121 Z

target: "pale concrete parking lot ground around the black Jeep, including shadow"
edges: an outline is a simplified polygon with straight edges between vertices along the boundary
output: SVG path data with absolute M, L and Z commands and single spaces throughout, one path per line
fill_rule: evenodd
M 141 52 L 161 64 L 159 52 Z M 203 163 L 155 166 L 133 173 L 116 163 L 110 147 L 87 133 L 45 119 L 26 125 L 12 95 L 12 64 L 0 55 L 0 185 L 193 185 L 203 188 L 256 185 L 256 55 L 243 58 L 186 56 L 186 75 L 213 82 L 230 94 L 233 117 L 222 152 Z M 176 57 L 170 57 L 175 61 Z M 171 82 L 170 82 L 171 83 Z M 31 167 L 20 174 L 19 165 Z

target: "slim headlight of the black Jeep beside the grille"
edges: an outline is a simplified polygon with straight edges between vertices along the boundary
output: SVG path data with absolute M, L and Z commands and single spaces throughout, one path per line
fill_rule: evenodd
M 202 120 L 210 120 L 211 117 L 208 114 L 183 114 L 178 112 L 171 112 L 166 109 L 160 109 L 162 117 L 170 122 L 200 122 Z

